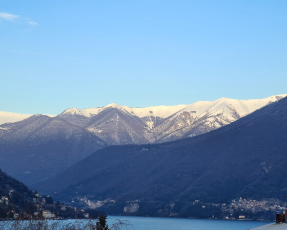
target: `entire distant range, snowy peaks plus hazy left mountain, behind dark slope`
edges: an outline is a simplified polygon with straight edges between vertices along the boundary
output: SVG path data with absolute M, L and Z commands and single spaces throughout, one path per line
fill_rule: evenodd
M 189 105 L 131 108 L 110 104 L 35 114 L 0 125 L 0 167 L 28 186 L 49 178 L 107 145 L 174 141 L 228 125 L 286 95 L 221 98 Z

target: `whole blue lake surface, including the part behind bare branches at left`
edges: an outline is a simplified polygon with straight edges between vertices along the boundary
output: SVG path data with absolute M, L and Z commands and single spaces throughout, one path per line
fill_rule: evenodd
M 271 222 L 266 221 L 239 221 L 239 220 L 209 220 L 209 219 L 184 219 L 184 218 L 159 218 L 159 217 L 130 217 L 130 216 L 108 216 L 108 225 L 112 226 L 115 220 L 129 221 L 132 227 L 121 228 L 125 230 L 245 230 Z M 92 220 L 93 224 L 96 220 Z M 87 227 L 89 220 L 47 220 L 40 221 L 40 224 L 45 229 L 54 229 L 53 224 L 56 224 L 55 229 L 68 229 L 74 225 L 73 229 Z M 0 221 L 0 229 L 29 229 L 29 226 L 36 226 L 37 221 Z M 16 226 L 16 227 L 15 227 Z M 85 228 L 89 229 L 89 228 Z M 119 229 L 119 228 L 112 228 Z

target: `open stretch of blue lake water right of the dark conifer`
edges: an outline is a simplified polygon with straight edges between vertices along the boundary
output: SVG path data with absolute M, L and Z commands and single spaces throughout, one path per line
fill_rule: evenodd
M 108 216 L 108 224 L 111 224 L 115 219 L 130 221 L 136 230 L 243 230 L 271 223 L 265 221 Z

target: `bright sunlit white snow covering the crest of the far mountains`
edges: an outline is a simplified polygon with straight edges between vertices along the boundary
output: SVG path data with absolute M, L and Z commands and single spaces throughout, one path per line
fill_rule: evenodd
M 203 114 L 211 113 L 215 114 L 218 112 L 228 114 L 228 118 L 232 120 L 237 120 L 234 118 L 236 112 L 237 116 L 244 117 L 245 115 L 254 112 L 255 110 L 279 99 L 286 97 L 287 94 L 271 96 L 264 99 L 251 99 L 251 100 L 236 100 L 229 98 L 220 98 L 215 101 L 198 101 L 189 105 L 172 105 L 172 106 L 151 106 L 144 108 L 133 108 L 125 105 L 117 105 L 115 103 L 98 107 L 98 108 L 87 108 L 87 109 L 77 109 L 70 108 L 66 109 L 62 114 L 76 114 L 79 116 L 85 117 L 93 117 L 99 112 L 103 111 L 107 108 L 117 108 L 119 110 L 129 112 L 132 115 L 135 115 L 139 118 L 144 117 L 160 117 L 160 118 L 168 118 L 173 114 L 180 114 L 182 112 L 189 112 L 194 114 L 196 117 L 202 117 Z M 153 124 L 149 123 L 149 127 L 152 127 Z

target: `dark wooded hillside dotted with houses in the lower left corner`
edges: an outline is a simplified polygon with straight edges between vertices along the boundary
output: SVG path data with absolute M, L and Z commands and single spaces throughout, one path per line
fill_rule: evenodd
M 0 220 L 85 219 L 100 215 L 105 214 L 54 202 L 51 196 L 41 196 L 36 191 L 29 190 L 24 183 L 0 169 Z

